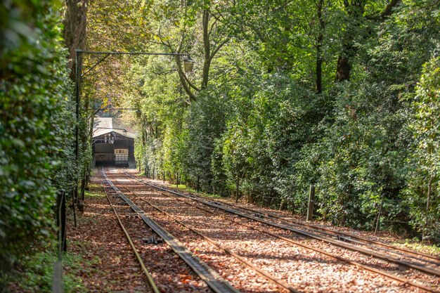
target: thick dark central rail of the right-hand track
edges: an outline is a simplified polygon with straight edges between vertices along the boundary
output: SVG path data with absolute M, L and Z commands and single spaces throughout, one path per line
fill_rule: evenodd
M 127 174 L 127 175 L 131 176 L 129 174 Z M 131 177 L 134 178 L 133 176 L 131 176 Z M 268 221 L 266 219 L 261 219 L 258 216 L 252 216 L 252 215 L 249 215 L 249 214 L 244 214 L 244 213 L 242 213 L 240 211 L 237 211 L 237 210 L 234 210 L 234 209 L 230 209 L 228 207 L 221 207 L 221 205 L 219 205 L 219 204 L 208 202 L 207 200 L 201 200 L 200 198 L 190 197 L 190 196 L 185 195 L 183 193 L 179 193 L 179 192 L 176 192 L 174 190 L 169 190 L 169 189 L 164 188 L 162 186 L 152 185 L 150 182 L 145 182 L 145 181 L 142 181 L 142 180 L 140 180 L 138 178 L 136 178 L 136 180 L 141 181 L 141 182 L 143 182 L 145 184 L 148 184 L 150 186 L 154 186 L 155 188 L 158 188 L 160 190 L 167 191 L 169 193 L 173 193 L 173 194 L 181 196 L 181 197 L 186 197 L 186 198 L 188 198 L 190 200 L 194 200 L 196 202 L 201 202 L 202 204 L 206 204 L 206 205 L 208 205 L 210 207 L 215 207 L 217 209 L 222 209 L 224 211 L 227 211 L 227 212 L 229 212 L 231 214 L 236 214 L 236 215 L 241 216 L 243 218 L 252 219 L 254 221 L 259 221 L 260 223 L 265 223 L 268 226 L 273 226 L 275 228 L 281 228 L 283 230 L 290 230 L 290 231 L 295 232 L 295 233 L 300 234 L 300 235 L 311 237 L 311 238 L 316 239 L 316 240 L 321 240 L 323 242 L 331 243 L 332 245 L 335 245 L 337 247 L 342 247 L 344 249 L 349 249 L 349 250 L 352 250 L 352 251 L 355 251 L 355 252 L 360 252 L 361 254 L 365 254 L 367 256 L 375 256 L 377 259 L 382 259 L 384 261 L 396 263 L 396 264 L 399 264 L 401 266 L 406 266 L 408 268 L 414 268 L 414 269 L 416 269 L 418 271 L 422 271 L 424 273 L 430 273 L 432 275 L 440 276 L 440 271 L 436 270 L 434 268 L 431 268 L 431 267 L 426 267 L 426 266 L 418 265 L 418 264 L 415 264 L 415 263 L 408 263 L 407 261 L 401 261 L 400 259 L 397 259 L 394 256 L 390 256 L 390 255 L 387 255 L 387 254 L 381 254 L 381 253 L 375 252 L 374 250 L 371 250 L 371 249 L 365 249 L 365 248 L 362 248 L 362 247 L 356 247 L 356 245 L 351 245 L 351 244 L 349 244 L 347 242 L 343 242 L 341 240 L 335 240 L 335 239 L 332 239 L 330 237 L 325 237 L 325 236 L 322 236 L 322 235 L 312 234 L 312 233 L 306 232 L 304 230 L 299 230 L 299 229 L 292 228 L 292 227 L 287 226 L 287 225 L 275 223 L 273 221 Z

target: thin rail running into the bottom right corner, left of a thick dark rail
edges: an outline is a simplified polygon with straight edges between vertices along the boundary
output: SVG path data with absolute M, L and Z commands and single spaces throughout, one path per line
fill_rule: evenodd
M 127 174 L 127 173 L 126 173 L 126 175 L 129 176 L 129 177 L 131 177 L 131 178 L 134 178 L 134 179 L 137 180 L 137 181 L 140 181 L 141 183 L 145 183 L 145 181 L 139 180 L 138 178 L 136 178 L 136 177 L 134 177 L 134 176 L 130 176 L 130 175 Z M 148 184 L 145 183 L 145 185 L 148 185 Z M 154 186 L 154 185 L 150 185 L 150 187 L 152 187 L 152 188 L 158 188 L 157 186 Z M 174 193 L 172 193 L 172 192 L 170 192 L 170 191 L 168 191 L 168 190 L 165 190 L 165 192 L 162 190 L 162 192 L 160 192 L 160 194 L 162 194 L 162 195 L 165 195 L 165 196 L 167 196 L 167 197 L 171 197 L 170 195 L 167 195 L 167 193 L 171 193 L 171 194 L 174 195 Z M 207 211 L 209 214 L 215 214 L 215 215 L 221 216 L 222 218 L 226 219 L 226 221 L 231 221 L 231 222 L 233 222 L 233 223 L 238 223 L 239 225 L 241 225 L 241 226 L 245 226 L 246 228 L 250 228 L 250 229 L 252 229 L 252 230 L 256 230 L 256 231 L 259 231 L 259 232 L 261 232 L 261 233 L 265 233 L 265 234 L 267 234 L 267 235 L 271 235 L 272 237 L 276 237 L 276 238 L 278 238 L 278 239 L 280 239 L 280 240 L 284 240 L 285 242 L 290 242 L 290 243 L 293 244 L 293 245 L 297 245 L 297 246 L 300 246 L 300 247 L 304 247 L 304 248 L 306 248 L 306 249 L 311 249 L 311 250 L 313 250 L 313 251 L 315 251 L 315 252 L 319 252 L 319 253 L 321 253 L 321 254 L 325 254 L 326 256 L 330 256 L 330 257 L 332 257 L 333 259 L 337 259 L 337 260 L 339 260 L 339 261 L 344 261 L 344 262 L 349 263 L 349 264 L 351 264 L 351 265 L 353 265 L 353 266 L 356 266 L 356 267 L 358 267 L 358 268 L 363 268 L 363 269 L 365 269 L 366 271 L 370 271 L 370 272 L 372 272 L 372 273 L 377 273 L 377 274 L 379 274 L 379 275 L 383 275 L 383 276 L 388 277 L 388 278 L 390 278 L 390 279 L 392 279 L 392 280 L 399 281 L 399 282 L 401 282 L 401 283 L 403 283 L 403 284 L 408 284 L 408 285 L 413 286 L 413 287 L 416 287 L 416 288 L 418 288 L 418 289 L 423 289 L 423 290 L 425 290 L 426 292 L 440 293 L 440 291 L 438 291 L 438 290 L 436 290 L 436 289 L 432 289 L 431 287 L 427 287 L 427 286 L 425 286 L 425 285 L 420 285 L 420 284 L 418 284 L 418 283 L 416 283 L 416 282 L 413 282 L 413 281 L 411 281 L 411 280 L 407 280 L 407 279 L 405 279 L 405 278 L 401 278 L 401 277 L 396 276 L 396 275 L 393 275 L 393 274 L 391 274 L 391 273 L 387 273 L 387 272 L 385 272 L 385 271 L 381 271 L 381 270 L 379 270 L 379 269 L 377 269 L 377 268 L 373 268 L 373 267 L 370 267 L 370 266 L 364 265 L 363 263 L 358 263 L 357 261 L 351 261 L 351 260 L 349 260 L 349 259 L 345 259 L 345 258 L 342 257 L 342 256 L 337 256 L 337 255 L 334 255 L 334 254 L 330 254 L 330 253 L 325 252 L 324 250 L 318 249 L 318 248 L 316 248 L 316 247 L 311 247 L 311 246 L 309 246 L 309 245 L 304 245 L 304 244 L 302 244 L 301 242 L 297 242 L 297 241 L 292 240 L 292 239 L 290 239 L 290 238 L 283 237 L 283 236 L 280 236 L 280 235 L 276 235 L 276 234 L 271 233 L 271 232 L 268 232 L 268 231 L 266 231 L 266 230 L 261 230 L 261 229 L 259 229 L 259 228 L 255 228 L 254 226 L 247 225 L 247 224 L 242 223 L 242 222 L 240 222 L 240 221 L 237 221 L 237 220 L 235 220 L 235 219 L 229 219 L 228 217 L 226 217 L 226 216 L 224 216 L 224 215 L 222 215 L 222 214 L 215 213 L 214 211 L 210 211 L 209 209 L 205 209 L 205 208 L 202 208 L 202 207 L 198 207 L 198 206 L 195 205 L 195 204 L 190 204 L 189 202 L 186 202 L 185 200 L 182 200 L 181 198 L 179 198 L 179 195 L 177 195 L 177 196 L 174 195 L 174 197 L 172 197 L 172 198 L 174 198 L 174 199 L 176 199 L 176 200 L 179 200 L 180 202 L 183 202 L 183 203 L 185 203 L 185 204 L 188 204 L 188 205 L 191 206 L 191 207 L 195 207 L 195 208 L 200 209 L 200 210 L 202 210 L 202 211 Z M 185 198 L 187 198 L 187 197 L 185 197 Z M 190 198 L 188 198 L 188 199 L 190 199 Z

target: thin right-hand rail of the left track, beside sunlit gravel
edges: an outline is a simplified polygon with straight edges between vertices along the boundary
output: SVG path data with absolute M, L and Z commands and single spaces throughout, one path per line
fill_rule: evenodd
M 117 181 L 118 182 L 118 181 Z M 169 214 L 167 211 L 164 211 L 163 209 L 160 209 L 160 207 L 157 207 L 155 204 L 152 204 L 150 201 L 145 200 L 145 198 L 139 196 L 137 193 L 135 193 L 133 190 L 129 190 L 129 188 L 127 188 L 126 186 L 122 185 L 122 187 L 126 190 L 129 191 L 129 193 L 133 193 L 139 200 L 142 200 L 143 202 L 146 202 L 147 204 L 149 204 L 151 207 L 157 209 L 157 211 L 162 212 L 163 214 L 166 214 L 167 216 L 169 216 L 169 218 L 173 219 L 174 221 L 176 221 L 176 223 L 179 223 L 181 226 L 184 226 L 186 228 L 188 228 L 189 230 L 193 231 L 195 234 L 199 235 L 200 237 L 205 238 L 205 240 L 207 240 L 207 242 L 212 243 L 213 245 L 215 245 L 216 247 L 219 247 L 220 249 L 222 249 L 224 252 L 226 252 L 226 254 L 229 254 L 233 257 L 235 257 L 235 259 L 238 259 L 238 261 L 241 261 L 242 263 L 245 263 L 246 266 L 252 268 L 254 271 L 257 271 L 257 273 L 259 273 L 260 275 L 262 275 L 264 278 L 267 278 L 268 280 L 271 280 L 273 282 L 276 282 L 276 284 L 280 285 L 281 287 L 289 290 L 292 293 L 299 293 L 299 291 L 295 288 L 293 288 L 290 285 L 287 285 L 285 282 L 283 282 L 282 280 L 279 280 L 278 278 L 276 278 L 276 276 L 272 275 L 271 273 L 267 273 L 266 271 L 262 270 L 261 268 L 258 268 L 254 263 L 252 263 L 251 261 L 247 261 L 245 258 L 243 258 L 242 256 L 236 254 L 235 252 L 232 252 L 230 249 L 223 247 L 219 244 L 219 242 L 216 242 L 215 240 L 213 240 L 211 237 L 205 235 L 204 233 L 201 233 L 199 230 L 193 228 L 192 226 L 189 226 L 187 223 L 183 223 L 182 221 L 179 221 L 178 219 L 176 219 L 172 214 Z

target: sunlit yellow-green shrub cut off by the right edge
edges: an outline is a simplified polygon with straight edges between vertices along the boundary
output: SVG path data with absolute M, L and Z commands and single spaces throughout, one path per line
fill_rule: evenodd
M 411 129 L 415 137 L 407 200 L 411 204 L 413 225 L 422 235 L 440 239 L 440 58 L 423 66 L 413 99 L 415 116 Z

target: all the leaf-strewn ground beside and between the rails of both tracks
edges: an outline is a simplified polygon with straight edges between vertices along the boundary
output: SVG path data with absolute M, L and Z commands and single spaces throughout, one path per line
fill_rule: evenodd
M 438 278 L 417 271 L 407 270 L 317 240 L 310 240 L 300 235 L 264 226 L 261 223 L 241 219 L 217 209 L 204 207 L 207 211 L 202 211 L 191 207 L 185 201 L 168 197 L 146 185 L 133 181 L 124 176 L 121 170 L 110 169 L 107 171 L 107 175 L 148 216 L 181 240 L 188 249 L 242 292 L 286 292 L 286 290 L 261 277 L 252 268 L 244 266 L 240 261 L 226 254 L 224 249 L 212 245 L 174 219 L 204 233 L 221 247 L 244 257 L 247 261 L 254 263 L 255 266 L 283 280 L 300 292 L 418 291 L 382 275 L 368 273 L 361 268 L 350 266 L 319 252 L 313 252 L 310 249 L 279 240 L 261 230 L 365 263 L 368 266 L 380 268 L 409 280 L 416 280 L 436 289 L 440 287 Z M 79 227 L 76 230 L 70 228 L 69 233 L 69 249 L 85 259 L 95 260 L 93 270 L 79 273 L 79 276 L 91 292 L 122 290 L 125 292 L 148 292 L 145 277 L 117 224 L 117 219 L 99 185 L 98 177 L 94 176 L 92 181 L 93 184 L 84 205 L 84 213 L 80 213 L 78 216 Z M 141 198 L 167 211 L 172 216 L 157 211 Z M 145 243 L 145 238 L 153 235 L 153 232 L 129 207 L 121 204 L 122 200 L 112 195 L 110 195 L 110 200 L 120 214 L 124 226 L 126 226 L 145 262 L 145 266 L 153 275 L 161 292 L 209 292 L 205 283 L 190 271 L 188 266 L 172 252 L 167 244 L 151 245 Z M 242 205 L 252 207 L 243 203 Z M 214 211 L 216 214 L 209 211 Z M 291 216 L 279 211 L 272 212 L 286 217 Z M 72 227 L 72 223 L 70 223 L 70 227 Z M 372 236 L 369 233 L 360 233 L 354 230 L 349 230 L 349 232 Z M 382 240 L 397 241 L 390 235 L 382 237 Z

